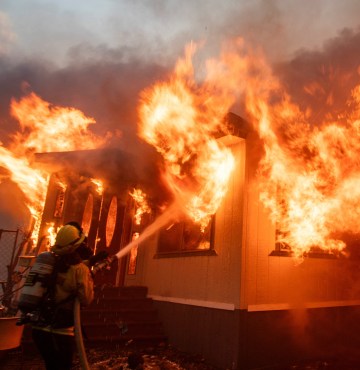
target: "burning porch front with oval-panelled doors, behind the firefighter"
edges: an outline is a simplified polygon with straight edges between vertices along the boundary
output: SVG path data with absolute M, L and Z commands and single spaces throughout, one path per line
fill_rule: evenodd
M 127 207 L 129 193 L 141 178 L 137 176 L 131 156 L 107 149 L 42 153 L 37 154 L 36 159 L 37 166 L 49 173 L 53 171 L 42 218 L 42 235 L 50 224 L 59 227 L 75 220 L 84 227 L 93 248 L 96 244 L 108 247 L 112 238 L 106 229 L 110 229 L 114 221 L 108 217 L 109 213 L 117 219 L 119 215 L 114 210 L 121 212 Z M 115 224 L 112 226 L 114 231 Z M 102 236 L 97 242 L 99 228 Z M 113 248 L 119 247 L 118 243 Z M 113 248 L 111 252 L 115 253 L 118 249 Z

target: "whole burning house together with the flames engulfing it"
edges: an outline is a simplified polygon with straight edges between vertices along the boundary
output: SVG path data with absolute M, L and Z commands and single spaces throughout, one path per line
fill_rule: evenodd
M 138 135 L 161 158 L 140 161 L 152 176 L 81 130 L 66 148 L 37 147 L 33 247 L 80 222 L 95 249 L 119 257 L 101 282 L 146 287 L 169 342 L 221 368 L 356 355 L 360 88 L 316 125 L 239 45 L 208 63 L 202 85 L 189 47 L 168 81 L 143 91 Z M 246 120 L 228 113 L 237 99 Z

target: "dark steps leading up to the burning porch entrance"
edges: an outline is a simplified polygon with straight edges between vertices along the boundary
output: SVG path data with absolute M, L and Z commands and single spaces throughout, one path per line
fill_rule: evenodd
M 95 299 L 81 312 L 89 344 L 160 344 L 167 341 L 153 300 L 144 286 L 95 289 Z

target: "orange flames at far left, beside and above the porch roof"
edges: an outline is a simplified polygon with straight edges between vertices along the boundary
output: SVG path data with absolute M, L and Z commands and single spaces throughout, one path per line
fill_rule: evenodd
M 0 166 L 22 190 L 26 206 L 33 217 L 32 240 L 36 244 L 44 209 L 49 173 L 36 167 L 35 152 L 93 149 L 103 145 L 87 130 L 95 123 L 74 108 L 51 105 L 31 93 L 19 101 L 12 100 L 11 114 L 20 124 L 20 131 L 10 137 L 8 147 L 0 146 Z

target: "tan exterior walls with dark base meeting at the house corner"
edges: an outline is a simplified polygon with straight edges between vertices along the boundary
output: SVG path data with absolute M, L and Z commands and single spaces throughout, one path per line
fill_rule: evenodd
M 250 134 L 232 150 L 237 168 L 216 215 L 217 256 L 156 259 L 154 235 L 140 246 L 137 273 L 125 284 L 148 286 L 170 343 L 220 368 L 289 364 L 345 349 L 354 355 L 357 261 L 270 256 L 275 227 L 256 181 L 261 148 Z

